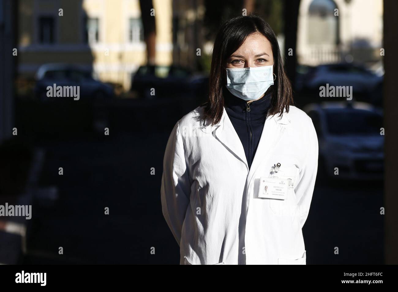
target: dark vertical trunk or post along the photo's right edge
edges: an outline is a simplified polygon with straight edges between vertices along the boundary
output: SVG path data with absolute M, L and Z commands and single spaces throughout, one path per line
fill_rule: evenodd
M 398 168 L 398 135 L 396 131 L 396 120 L 398 116 L 398 102 L 396 101 L 396 68 L 398 66 L 398 47 L 397 27 L 398 2 L 384 0 L 384 36 L 383 42 L 385 49 L 384 58 L 384 263 L 398 264 L 398 196 L 397 184 Z M 375 211 L 379 206 L 375 206 Z

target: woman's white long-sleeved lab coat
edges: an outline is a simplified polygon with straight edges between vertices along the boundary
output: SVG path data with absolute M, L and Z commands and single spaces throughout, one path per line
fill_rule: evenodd
M 164 218 L 180 246 L 180 264 L 306 264 L 302 226 L 318 168 L 318 139 L 300 109 L 268 115 L 248 168 L 238 134 L 224 113 L 205 125 L 198 107 L 179 120 L 164 156 Z M 258 197 L 260 177 L 281 163 L 294 182 L 287 199 Z

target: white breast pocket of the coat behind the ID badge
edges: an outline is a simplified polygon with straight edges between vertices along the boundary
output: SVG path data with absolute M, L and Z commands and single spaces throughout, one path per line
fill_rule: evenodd
M 272 175 L 273 178 L 289 180 L 287 198 L 284 200 L 269 199 L 269 208 L 277 215 L 293 215 L 297 210 L 297 200 L 294 187 L 298 177 L 298 168 L 295 165 L 281 167 L 279 171 Z

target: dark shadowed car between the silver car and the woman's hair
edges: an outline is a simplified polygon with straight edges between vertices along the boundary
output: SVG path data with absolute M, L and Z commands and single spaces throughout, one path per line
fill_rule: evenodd
M 178 66 L 140 66 L 132 76 L 131 90 L 143 98 L 198 97 L 207 92 L 209 78 Z M 154 91 L 152 90 L 154 89 Z

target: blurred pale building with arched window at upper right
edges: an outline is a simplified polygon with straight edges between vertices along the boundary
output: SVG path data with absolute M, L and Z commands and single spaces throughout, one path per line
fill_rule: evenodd
M 298 63 L 381 60 L 382 23 L 382 0 L 301 0 Z

